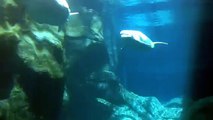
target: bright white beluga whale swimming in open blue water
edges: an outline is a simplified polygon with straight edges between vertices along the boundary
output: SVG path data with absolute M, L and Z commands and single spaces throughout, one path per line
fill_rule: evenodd
M 153 42 L 144 33 L 137 30 L 121 30 L 120 35 L 122 39 L 129 40 L 129 43 L 136 41 L 136 44 L 142 44 L 149 48 L 154 48 L 157 44 L 168 45 L 166 42 Z

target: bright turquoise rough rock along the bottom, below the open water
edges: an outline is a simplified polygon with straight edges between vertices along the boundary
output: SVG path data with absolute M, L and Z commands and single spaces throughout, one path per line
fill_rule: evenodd
M 121 89 L 125 104 L 103 103 L 113 108 L 110 120 L 179 120 L 180 107 L 165 107 L 155 97 L 142 97 Z

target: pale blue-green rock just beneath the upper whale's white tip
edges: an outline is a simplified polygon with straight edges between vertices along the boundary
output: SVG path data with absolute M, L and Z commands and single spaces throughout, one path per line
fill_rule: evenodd
M 101 17 L 93 10 L 82 7 L 81 14 L 70 16 L 64 25 L 64 32 L 69 37 L 87 37 L 103 40 Z

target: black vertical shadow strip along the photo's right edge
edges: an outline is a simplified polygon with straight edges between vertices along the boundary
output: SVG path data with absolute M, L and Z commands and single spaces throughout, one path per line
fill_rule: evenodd
M 185 101 L 183 120 L 213 119 L 213 2 L 203 0 L 198 25 L 196 59 L 189 93 Z

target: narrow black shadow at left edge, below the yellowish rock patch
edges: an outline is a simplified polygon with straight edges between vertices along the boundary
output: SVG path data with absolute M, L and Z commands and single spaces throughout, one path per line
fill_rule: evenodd
M 0 100 L 7 99 L 13 87 L 13 77 L 17 68 L 17 43 L 14 36 L 0 36 Z

